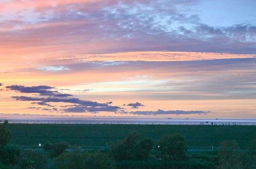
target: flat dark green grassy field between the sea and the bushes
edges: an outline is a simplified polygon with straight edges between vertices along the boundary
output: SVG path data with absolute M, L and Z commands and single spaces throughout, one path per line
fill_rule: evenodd
M 237 140 L 245 149 L 256 138 L 256 126 L 249 125 L 135 125 L 135 124 L 9 124 L 12 143 L 36 147 L 46 141 L 67 141 L 81 147 L 105 147 L 137 131 L 144 138 L 157 140 L 166 134 L 185 136 L 189 148 L 210 149 L 223 140 Z

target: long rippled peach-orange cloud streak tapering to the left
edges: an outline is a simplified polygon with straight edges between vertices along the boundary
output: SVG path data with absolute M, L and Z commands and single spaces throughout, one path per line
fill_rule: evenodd
M 144 51 L 107 54 L 84 54 L 73 57 L 60 57 L 56 60 L 73 61 L 191 61 L 191 60 L 214 60 L 231 58 L 255 58 L 255 54 L 229 54 L 229 53 L 207 53 L 207 52 L 164 52 Z M 120 62 L 116 62 L 118 65 Z M 123 62 L 121 62 L 122 64 Z M 113 64 L 112 64 L 113 65 Z

